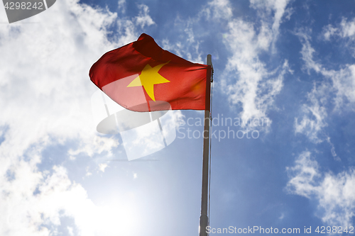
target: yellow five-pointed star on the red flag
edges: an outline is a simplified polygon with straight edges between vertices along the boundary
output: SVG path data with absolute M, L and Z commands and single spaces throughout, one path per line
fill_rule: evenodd
M 146 90 L 148 96 L 155 101 L 154 97 L 154 84 L 163 84 L 168 83 L 168 79 L 162 77 L 158 72 L 165 64 L 169 62 L 158 64 L 155 67 L 151 67 L 149 64 L 146 64 L 146 67 L 141 72 L 141 75 L 138 75 L 136 79 L 127 86 L 128 87 L 136 87 L 136 86 L 143 86 Z

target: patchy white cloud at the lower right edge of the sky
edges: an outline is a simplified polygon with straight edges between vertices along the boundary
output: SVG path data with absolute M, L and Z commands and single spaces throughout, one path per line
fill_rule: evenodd
M 287 169 L 290 176 L 286 191 L 316 200 L 317 216 L 328 225 L 354 225 L 355 169 L 339 174 L 320 171 L 310 152 L 302 152 L 295 166 Z

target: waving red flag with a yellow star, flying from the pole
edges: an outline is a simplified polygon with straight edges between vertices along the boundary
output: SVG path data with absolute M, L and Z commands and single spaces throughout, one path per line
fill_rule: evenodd
M 104 54 L 92 65 L 89 77 L 131 111 L 209 111 L 211 67 L 163 50 L 145 33 Z

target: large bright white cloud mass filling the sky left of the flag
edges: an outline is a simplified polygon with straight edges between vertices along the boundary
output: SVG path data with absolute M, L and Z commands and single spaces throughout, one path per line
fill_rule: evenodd
M 104 52 L 136 40 L 136 29 L 151 23 L 145 7 L 137 18 L 121 19 L 78 2 L 57 1 L 23 23 L 0 26 L 0 127 L 6 127 L 0 145 L 0 235 L 52 235 L 65 216 L 75 222 L 68 232 L 71 227 L 80 235 L 127 235 L 133 228 L 134 206 L 115 201 L 108 202 L 112 207 L 96 206 L 60 164 L 38 169 L 49 145 L 74 143 L 64 159 L 109 154 L 118 145 L 95 131 L 90 96 L 97 88 L 89 68 Z M 4 9 L 0 16 L 6 21 Z M 108 28 L 115 23 L 119 37 L 112 43 Z

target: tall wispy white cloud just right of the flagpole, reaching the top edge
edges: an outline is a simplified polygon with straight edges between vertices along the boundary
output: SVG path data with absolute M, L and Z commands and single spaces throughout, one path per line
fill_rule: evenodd
M 278 38 L 280 23 L 288 1 L 251 1 L 258 11 L 260 26 L 233 18 L 228 21 L 224 44 L 231 52 L 224 73 L 223 89 L 234 105 L 240 105 L 241 118 L 267 117 L 268 109 L 283 88 L 285 73 L 292 70 L 285 60 L 274 69 L 260 59 L 263 53 L 272 55 L 273 43 Z

